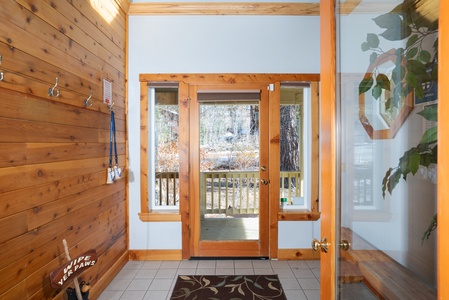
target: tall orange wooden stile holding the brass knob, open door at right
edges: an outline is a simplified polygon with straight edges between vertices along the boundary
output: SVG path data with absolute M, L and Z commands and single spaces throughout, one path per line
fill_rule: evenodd
M 330 242 L 330 250 L 321 255 L 320 299 L 335 299 L 336 253 L 336 27 L 335 0 L 320 1 L 320 199 L 321 237 Z

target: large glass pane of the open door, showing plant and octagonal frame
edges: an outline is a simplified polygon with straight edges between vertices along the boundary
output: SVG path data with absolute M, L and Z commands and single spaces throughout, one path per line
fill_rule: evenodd
M 414 2 L 337 5 L 339 299 L 436 298 L 438 1 Z

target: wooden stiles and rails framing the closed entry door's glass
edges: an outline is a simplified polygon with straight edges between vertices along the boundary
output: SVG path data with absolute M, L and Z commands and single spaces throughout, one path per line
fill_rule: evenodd
M 199 103 L 197 101 L 197 93 L 199 90 L 260 90 L 260 114 L 268 114 L 269 98 L 267 85 L 264 83 L 214 83 L 207 84 L 190 84 L 190 191 L 194 197 L 190 199 L 190 212 L 194 216 L 191 226 L 190 248 L 191 254 L 195 257 L 264 257 L 268 256 L 269 248 L 269 185 L 260 186 L 261 195 L 259 204 L 259 239 L 255 240 L 239 240 L 239 241 L 212 241 L 201 240 L 201 224 L 200 224 L 200 170 L 197 166 L 199 162 Z M 268 165 L 268 122 L 263 122 L 260 118 L 260 165 Z M 269 168 L 267 170 L 269 173 Z M 262 177 L 261 177 L 262 178 Z M 266 177 L 268 180 L 268 176 Z

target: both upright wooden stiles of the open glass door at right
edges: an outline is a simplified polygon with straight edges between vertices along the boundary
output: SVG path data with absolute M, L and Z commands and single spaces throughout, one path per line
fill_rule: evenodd
M 331 243 L 331 251 L 321 259 L 321 299 L 335 299 L 337 288 L 336 253 L 332 248 L 336 242 L 336 27 L 335 0 L 320 1 L 320 75 L 321 75 L 321 234 Z M 449 2 L 440 1 L 440 11 L 449 11 Z M 449 58 L 444 56 L 449 49 L 449 17 L 439 14 L 438 94 L 443 101 L 438 103 L 439 120 L 449 114 Z M 438 299 L 449 297 L 449 122 L 438 124 L 438 230 L 437 230 L 437 290 Z M 448 178 L 448 179 L 446 179 Z

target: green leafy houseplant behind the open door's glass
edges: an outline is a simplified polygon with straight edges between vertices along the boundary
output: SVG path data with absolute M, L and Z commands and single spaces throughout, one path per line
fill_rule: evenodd
M 399 108 L 401 101 L 413 91 L 415 97 L 425 96 L 424 84 L 436 82 L 438 74 L 438 21 L 422 17 L 416 10 L 415 1 L 405 0 L 390 12 L 380 15 L 373 21 L 384 31 L 380 34 L 368 33 L 366 41 L 361 45 L 362 51 L 371 51 L 370 64 L 375 63 L 379 55 L 385 54 L 380 47 L 381 39 L 387 41 L 403 41 L 405 47 L 397 48 L 395 66 L 390 76 L 374 67 L 367 72 L 359 84 L 359 94 L 371 91 L 378 100 L 382 93 L 388 91 L 386 109 Z M 428 47 L 429 40 L 433 41 Z M 437 106 L 428 106 L 419 112 L 429 121 L 437 121 Z M 429 128 L 421 137 L 420 142 L 405 151 L 395 167 L 390 167 L 382 181 L 382 196 L 392 193 L 402 179 L 407 180 L 410 173 L 415 175 L 419 168 L 428 168 L 437 163 L 437 126 Z M 437 227 L 435 215 L 424 232 L 422 241 L 428 239 Z

